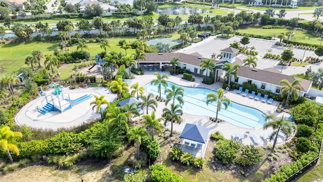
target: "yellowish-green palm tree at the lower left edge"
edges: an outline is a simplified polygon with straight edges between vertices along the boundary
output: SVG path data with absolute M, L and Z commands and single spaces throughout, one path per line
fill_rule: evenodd
M 17 156 L 19 155 L 18 147 L 11 143 L 11 141 L 15 141 L 17 137 L 22 138 L 22 133 L 19 131 L 12 131 L 9 126 L 3 126 L 0 129 L 0 146 L 4 152 L 7 153 L 9 160 L 11 163 L 14 162 L 11 156 L 11 152 L 14 152 Z

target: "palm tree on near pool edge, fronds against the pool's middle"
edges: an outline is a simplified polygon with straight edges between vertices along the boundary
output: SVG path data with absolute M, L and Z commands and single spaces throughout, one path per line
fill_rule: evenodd
M 218 113 L 221 110 L 222 105 L 224 105 L 225 109 L 228 108 L 228 106 L 231 104 L 231 101 L 229 98 L 224 97 L 224 92 L 222 88 L 218 89 L 218 95 L 214 93 L 209 93 L 206 96 L 206 105 L 208 103 L 217 102 L 217 116 L 216 121 L 218 121 Z

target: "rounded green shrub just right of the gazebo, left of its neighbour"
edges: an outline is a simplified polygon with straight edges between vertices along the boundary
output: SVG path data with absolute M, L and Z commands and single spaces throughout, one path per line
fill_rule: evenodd
M 239 144 L 232 140 L 219 140 L 214 146 L 214 155 L 220 159 L 224 164 L 233 162 L 237 157 L 239 151 Z

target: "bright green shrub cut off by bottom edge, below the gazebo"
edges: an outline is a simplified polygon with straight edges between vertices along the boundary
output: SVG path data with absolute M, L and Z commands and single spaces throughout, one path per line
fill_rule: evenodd
M 188 182 L 176 173 L 171 172 L 162 164 L 155 164 L 149 167 L 150 182 Z

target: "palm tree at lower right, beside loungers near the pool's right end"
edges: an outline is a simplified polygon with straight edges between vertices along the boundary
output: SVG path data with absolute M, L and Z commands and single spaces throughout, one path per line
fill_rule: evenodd
M 277 118 L 274 114 L 268 114 L 266 115 L 267 123 L 263 126 L 263 129 L 267 129 L 268 127 L 272 127 L 274 132 L 270 135 L 269 139 L 272 141 L 274 139 L 274 144 L 271 152 L 274 152 L 275 145 L 277 143 L 277 138 L 278 138 L 278 133 L 280 131 L 283 131 L 287 138 L 290 136 L 292 133 L 293 129 L 295 129 L 295 125 L 284 119 L 284 116 L 281 118 Z

